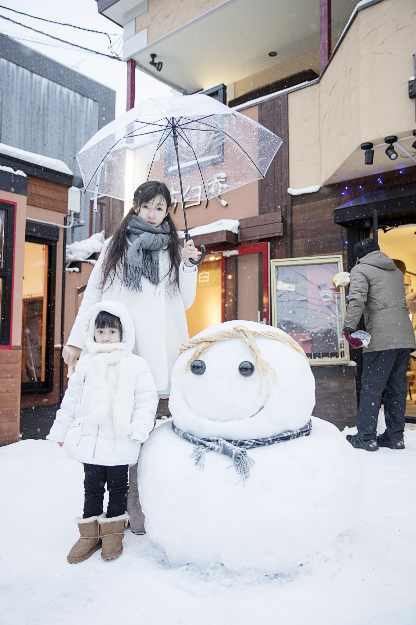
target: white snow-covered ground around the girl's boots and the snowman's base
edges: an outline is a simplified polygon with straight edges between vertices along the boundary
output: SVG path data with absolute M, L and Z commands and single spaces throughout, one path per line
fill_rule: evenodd
M 416 426 L 406 426 L 405 445 L 400 453 L 357 452 L 365 484 L 356 524 L 311 561 L 275 576 L 172 566 L 130 529 L 119 559 L 102 561 L 97 551 L 68 564 L 77 539 L 72 519 L 82 514 L 82 464 L 49 441 L 1 447 L 0 621 L 414 625 Z

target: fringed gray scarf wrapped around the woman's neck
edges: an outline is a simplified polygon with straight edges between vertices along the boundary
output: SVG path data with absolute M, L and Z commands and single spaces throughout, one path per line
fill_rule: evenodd
M 169 224 L 162 221 L 155 227 L 135 215 L 127 226 L 127 237 L 131 245 L 124 262 L 124 285 L 141 293 L 142 276 L 150 284 L 159 282 L 159 250 L 169 242 Z

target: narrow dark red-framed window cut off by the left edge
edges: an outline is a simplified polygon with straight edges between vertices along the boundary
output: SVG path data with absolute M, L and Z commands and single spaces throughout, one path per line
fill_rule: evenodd
M 3 265 L 0 269 L 2 288 L 0 298 L 2 316 L 0 318 L 0 346 L 11 347 L 12 312 L 13 312 L 13 269 L 14 269 L 14 216 L 16 202 L 0 199 L 0 210 L 6 212 L 6 227 L 4 228 Z

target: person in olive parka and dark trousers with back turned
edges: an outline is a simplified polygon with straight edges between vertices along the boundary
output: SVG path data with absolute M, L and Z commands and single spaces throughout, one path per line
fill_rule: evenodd
M 377 451 L 379 447 L 404 449 L 406 371 L 410 352 L 415 349 L 404 276 L 374 239 L 357 243 L 354 253 L 357 264 L 351 270 L 344 336 L 351 347 L 362 346 L 360 339 L 351 333 L 356 331 L 364 314 L 371 341 L 363 348 L 358 433 L 347 436 L 347 440 L 353 447 L 367 451 Z M 386 430 L 377 436 L 377 416 L 384 389 Z

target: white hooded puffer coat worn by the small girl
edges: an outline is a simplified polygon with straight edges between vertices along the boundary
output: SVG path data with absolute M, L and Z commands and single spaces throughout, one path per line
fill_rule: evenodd
M 122 342 L 94 342 L 95 317 L 102 310 L 120 317 Z M 87 312 L 82 330 L 89 353 L 69 378 L 47 439 L 64 441 L 67 455 L 79 462 L 135 464 L 153 429 L 158 396 L 147 362 L 132 354 L 132 316 L 119 302 L 99 302 Z

